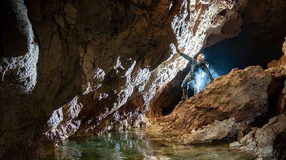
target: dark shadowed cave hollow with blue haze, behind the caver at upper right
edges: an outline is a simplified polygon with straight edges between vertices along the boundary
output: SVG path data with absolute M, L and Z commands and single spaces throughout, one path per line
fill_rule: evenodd
M 206 61 L 216 64 L 224 74 L 248 66 L 267 69 L 267 63 L 279 60 L 284 54 L 281 48 L 286 36 L 285 0 L 247 0 L 246 3 L 242 12 L 238 12 L 243 21 L 238 36 L 204 48 Z

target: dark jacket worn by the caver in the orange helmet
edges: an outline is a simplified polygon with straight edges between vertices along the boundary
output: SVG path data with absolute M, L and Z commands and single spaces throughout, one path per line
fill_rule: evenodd
M 189 73 L 192 77 L 195 77 L 195 75 L 194 75 L 195 72 L 196 72 L 199 68 L 201 68 L 201 70 L 202 70 L 205 74 L 208 75 L 208 78 L 209 78 L 209 79 L 213 79 L 213 76 L 212 76 L 210 70 L 208 69 L 208 66 L 205 64 L 205 62 L 204 62 L 204 63 L 201 63 L 201 65 L 198 66 L 198 65 L 197 65 L 197 59 L 194 59 L 194 58 L 192 58 L 192 57 L 190 57 L 190 56 L 188 56 L 187 54 L 184 54 L 184 53 L 180 53 L 180 56 L 184 57 L 186 60 L 188 60 L 188 61 L 192 64 L 191 70 L 190 70 L 190 73 Z

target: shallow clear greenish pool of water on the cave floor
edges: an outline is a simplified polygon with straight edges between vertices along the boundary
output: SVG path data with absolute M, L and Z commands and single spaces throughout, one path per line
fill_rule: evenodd
M 144 128 L 64 140 L 44 160 L 254 160 L 255 153 L 230 148 L 228 140 L 182 145 Z M 167 140 L 168 139 L 168 140 Z M 171 139 L 171 140 L 170 140 Z

